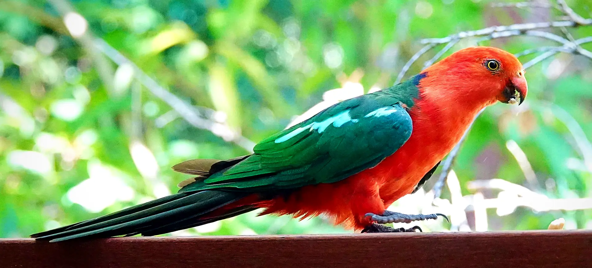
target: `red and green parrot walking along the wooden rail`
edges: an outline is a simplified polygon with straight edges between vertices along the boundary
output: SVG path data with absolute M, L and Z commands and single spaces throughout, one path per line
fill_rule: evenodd
M 387 208 L 423 187 L 481 109 L 498 101 L 520 105 L 526 94 L 525 71 L 513 54 L 467 47 L 390 88 L 329 106 L 263 139 L 252 154 L 176 164 L 173 170 L 192 175 L 177 193 L 31 237 L 152 236 L 256 209 L 323 215 L 356 233 L 422 231 L 384 224 L 445 215 Z

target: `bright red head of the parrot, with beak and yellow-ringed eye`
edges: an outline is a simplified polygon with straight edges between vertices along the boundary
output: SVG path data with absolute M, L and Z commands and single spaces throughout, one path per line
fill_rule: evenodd
M 426 79 L 432 76 L 437 78 L 434 83 L 448 85 L 443 87 L 451 91 L 446 95 L 462 96 L 466 101 L 481 101 L 484 105 L 496 101 L 522 104 L 528 90 L 522 64 L 513 54 L 496 47 L 456 51 L 424 72 Z

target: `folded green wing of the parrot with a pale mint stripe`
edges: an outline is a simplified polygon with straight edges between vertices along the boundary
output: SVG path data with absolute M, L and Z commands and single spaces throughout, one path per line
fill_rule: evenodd
M 259 191 L 337 182 L 376 166 L 403 146 L 411 130 L 411 117 L 397 98 L 362 95 L 266 138 L 252 156 L 180 191 Z

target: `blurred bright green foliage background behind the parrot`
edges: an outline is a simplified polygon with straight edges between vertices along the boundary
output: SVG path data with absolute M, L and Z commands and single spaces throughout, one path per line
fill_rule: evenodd
M 247 154 L 311 107 L 392 85 L 422 38 L 561 16 L 495 3 L 0 0 L 0 237 L 169 195 L 188 178 L 173 164 Z M 590 1 L 568 4 L 591 17 Z M 422 222 L 424 231 L 545 229 L 561 217 L 565 228 L 592 228 L 592 60 L 558 54 L 526 77 L 525 104 L 491 106 L 475 122 L 441 198 L 433 179 L 392 209 L 451 216 Z M 349 232 L 323 217 L 255 215 L 175 234 Z

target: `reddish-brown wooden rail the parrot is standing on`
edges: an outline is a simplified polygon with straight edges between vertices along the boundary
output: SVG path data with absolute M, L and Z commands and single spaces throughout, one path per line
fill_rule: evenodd
M 0 267 L 592 267 L 592 231 L 0 239 Z

